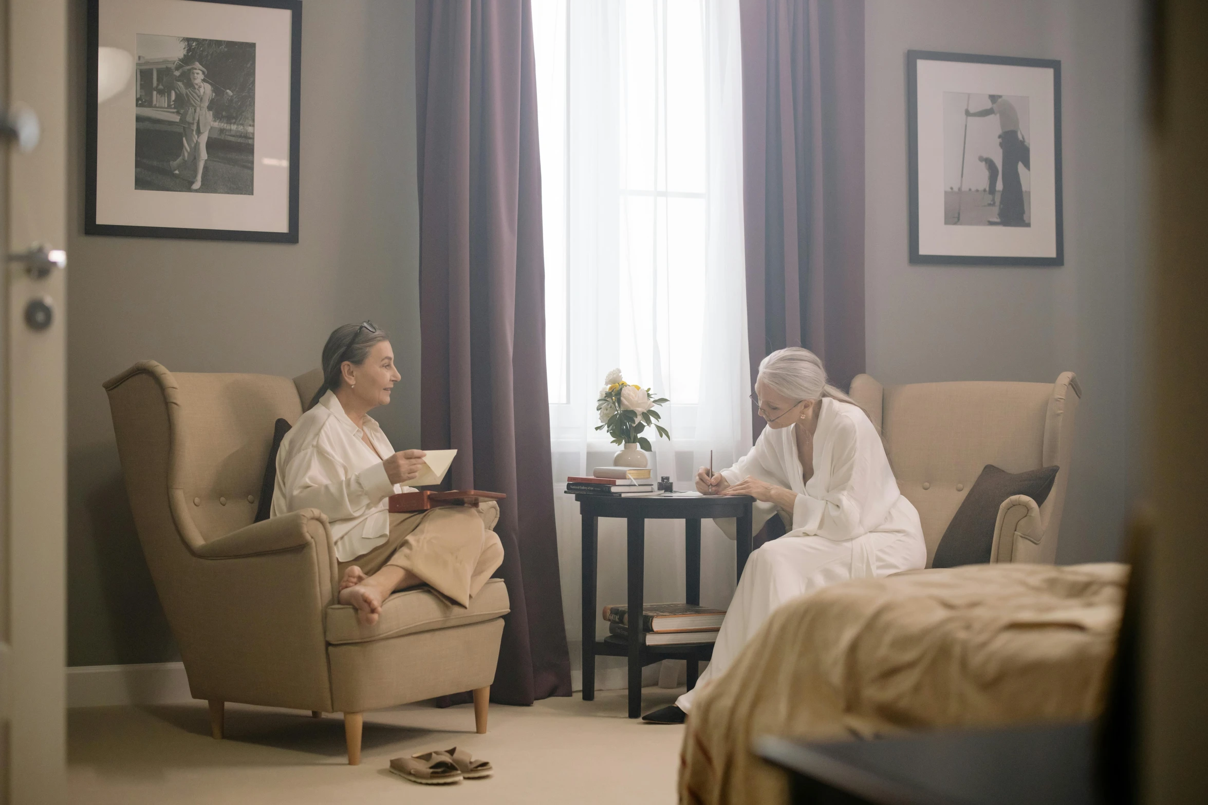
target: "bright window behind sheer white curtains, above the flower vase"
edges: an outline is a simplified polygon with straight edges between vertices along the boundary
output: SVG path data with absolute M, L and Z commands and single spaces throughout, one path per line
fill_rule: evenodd
M 719 269 L 743 273 L 741 247 L 737 261 L 709 268 L 719 241 L 710 221 L 742 237 L 741 183 L 713 197 L 719 167 L 741 167 L 737 86 L 720 136 L 715 124 L 715 80 L 736 71 L 709 64 L 725 49 L 710 47 L 714 6 L 732 5 L 533 0 L 556 450 L 559 441 L 608 442 L 592 428 L 614 367 L 672 401 L 663 413 L 676 443 L 696 432 L 710 287 Z M 737 64 L 737 11 L 722 13 L 734 17 Z M 728 220 L 718 215 L 726 209 Z M 743 304 L 741 291 L 727 296 Z

